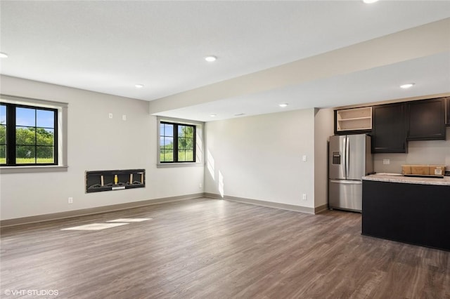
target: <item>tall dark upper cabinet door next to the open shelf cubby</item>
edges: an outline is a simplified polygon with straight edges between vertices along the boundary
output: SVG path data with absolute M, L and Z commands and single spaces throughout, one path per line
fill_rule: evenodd
M 406 104 L 372 107 L 372 152 L 406 152 Z

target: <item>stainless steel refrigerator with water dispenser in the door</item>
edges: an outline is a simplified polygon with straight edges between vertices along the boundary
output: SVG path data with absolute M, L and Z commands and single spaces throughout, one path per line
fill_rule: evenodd
M 328 150 L 328 208 L 361 212 L 361 178 L 373 173 L 371 136 L 330 136 Z

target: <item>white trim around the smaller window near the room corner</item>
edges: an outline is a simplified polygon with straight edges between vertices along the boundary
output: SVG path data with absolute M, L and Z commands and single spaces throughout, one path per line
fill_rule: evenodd
M 188 124 L 195 126 L 195 162 L 174 162 L 161 163 L 160 161 L 160 124 L 161 121 L 167 121 L 175 124 Z M 198 167 L 205 165 L 205 123 L 202 121 L 191 121 L 189 119 L 175 119 L 172 117 L 156 117 L 156 167 L 172 168 L 172 167 Z

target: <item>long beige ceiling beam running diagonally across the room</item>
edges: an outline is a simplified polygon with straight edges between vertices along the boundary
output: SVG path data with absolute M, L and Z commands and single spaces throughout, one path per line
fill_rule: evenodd
M 450 52 L 450 18 L 149 102 L 149 113 L 200 105 Z

